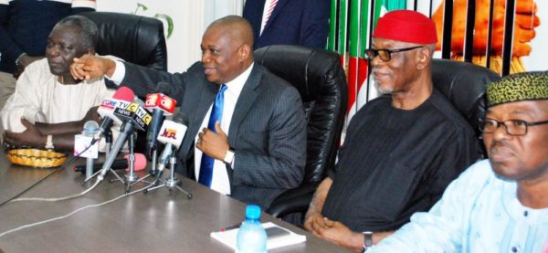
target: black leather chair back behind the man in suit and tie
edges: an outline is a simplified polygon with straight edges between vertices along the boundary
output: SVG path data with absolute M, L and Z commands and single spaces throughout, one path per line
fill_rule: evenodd
M 348 100 L 339 56 L 319 48 L 276 45 L 258 48 L 255 61 L 299 90 L 308 134 L 303 182 L 320 182 L 335 163 Z

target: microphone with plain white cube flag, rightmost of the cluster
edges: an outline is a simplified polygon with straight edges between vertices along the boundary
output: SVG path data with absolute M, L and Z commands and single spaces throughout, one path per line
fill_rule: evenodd
M 186 134 L 186 128 L 188 125 L 188 117 L 179 111 L 174 115 L 173 121 L 165 120 L 162 124 L 162 129 L 158 135 L 158 142 L 165 144 L 163 153 L 160 154 L 156 174 L 156 179 L 160 178 L 165 165 L 169 162 L 169 158 L 177 150 L 183 142 L 184 134 Z

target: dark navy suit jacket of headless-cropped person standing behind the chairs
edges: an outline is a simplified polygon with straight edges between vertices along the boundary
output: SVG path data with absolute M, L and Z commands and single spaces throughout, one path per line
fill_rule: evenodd
M 329 32 L 329 0 L 279 0 L 259 35 L 265 0 L 248 0 L 243 16 L 253 26 L 254 47 L 300 45 L 325 47 Z

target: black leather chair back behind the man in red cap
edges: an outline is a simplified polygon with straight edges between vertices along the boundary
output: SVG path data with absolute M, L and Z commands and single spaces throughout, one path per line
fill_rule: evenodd
M 432 62 L 434 87 L 462 114 L 478 137 L 479 119 L 485 116 L 487 104 L 485 88 L 498 79 L 501 77 L 492 70 L 468 62 L 439 58 Z

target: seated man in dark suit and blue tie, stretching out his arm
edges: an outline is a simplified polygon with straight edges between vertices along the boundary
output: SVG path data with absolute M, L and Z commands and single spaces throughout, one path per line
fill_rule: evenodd
M 253 61 L 251 26 L 226 16 L 207 27 L 202 60 L 184 73 L 167 73 L 128 62 L 91 56 L 75 59 L 72 73 L 82 79 L 106 75 L 144 97 L 159 81 L 172 83 L 167 95 L 189 117 L 177 153 L 177 172 L 212 189 L 263 208 L 302 181 L 306 123 L 299 91 Z M 222 119 L 209 128 L 209 115 L 224 92 Z M 203 174 L 207 155 L 215 162 Z M 204 182 L 207 178 L 209 182 Z

